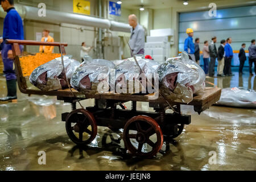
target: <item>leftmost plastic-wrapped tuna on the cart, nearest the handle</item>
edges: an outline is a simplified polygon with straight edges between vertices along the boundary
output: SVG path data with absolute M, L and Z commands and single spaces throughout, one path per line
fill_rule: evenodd
M 68 81 L 71 79 L 73 72 L 79 66 L 79 61 L 72 59 L 72 55 L 63 56 L 65 73 Z M 61 57 L 57 57 L 45 64 L 40 65 L 30 75 L 31 84 L 40 90 L 59 90 L 68 88 L 64 79 L 63 65 Z

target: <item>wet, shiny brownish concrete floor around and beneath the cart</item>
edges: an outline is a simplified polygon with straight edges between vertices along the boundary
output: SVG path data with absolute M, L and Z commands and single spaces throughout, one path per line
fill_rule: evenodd
M 233 77 L 207 80 L 222 88 L 256 90 L 255 76 L 245 71 L 241 78 L 236 71 Z M 0 97 L 5 94 L 0 76 Z M 82 105 L 93 105 L 93 100 Z M 151 110 L 147 103 L 139 103 L 138 109 Z M 106 127 L 98 127 L 89 146 L 76 146 L 61 122 L 61 113 L 70 110 L 56 97 L 20 92 L 17 103 L 0 105 L 0 170 L 256 170 L 255 109 L 212 106 L 200 115 L 192 112 L 191 124 L 170 143 L 170 151 L 152 159 L 127 154 L 122 133 Z M 46 165 L 38 163 L 39 151 L 46 152 Z

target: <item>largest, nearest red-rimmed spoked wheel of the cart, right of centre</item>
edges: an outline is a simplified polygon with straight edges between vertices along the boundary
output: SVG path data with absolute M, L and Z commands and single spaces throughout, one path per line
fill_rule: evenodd
M 163 134 L 155 119 L 138 115 L 125 124 L 123 141 L 132 154 L 150 158 L 162 148 Z

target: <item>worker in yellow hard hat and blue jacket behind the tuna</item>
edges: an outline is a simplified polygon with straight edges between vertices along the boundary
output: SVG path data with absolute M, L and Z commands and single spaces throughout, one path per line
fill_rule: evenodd
M 185 39 L 184 43 L 184 51 L 188 53 L 188 55 L 191 57 L 193 61 L 196 61 L 195 58 L 195 45 L 193 43 L 193 38 L 192 36 L 194 35 L 194 32 L 192 28 L 187 28 L 186 33 L 188 34 L 188 38 Z

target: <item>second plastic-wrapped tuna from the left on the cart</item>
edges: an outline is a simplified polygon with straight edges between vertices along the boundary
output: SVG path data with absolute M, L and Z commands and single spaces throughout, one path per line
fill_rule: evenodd
M 105 81 L 106 84 L 102 84 L 101 90 L 109 90 L 110 69 L 115 65 L 103 59 L 84 60 L 73 74 L 71 86 L 82 93 L 96 93 L 98 84 Z

